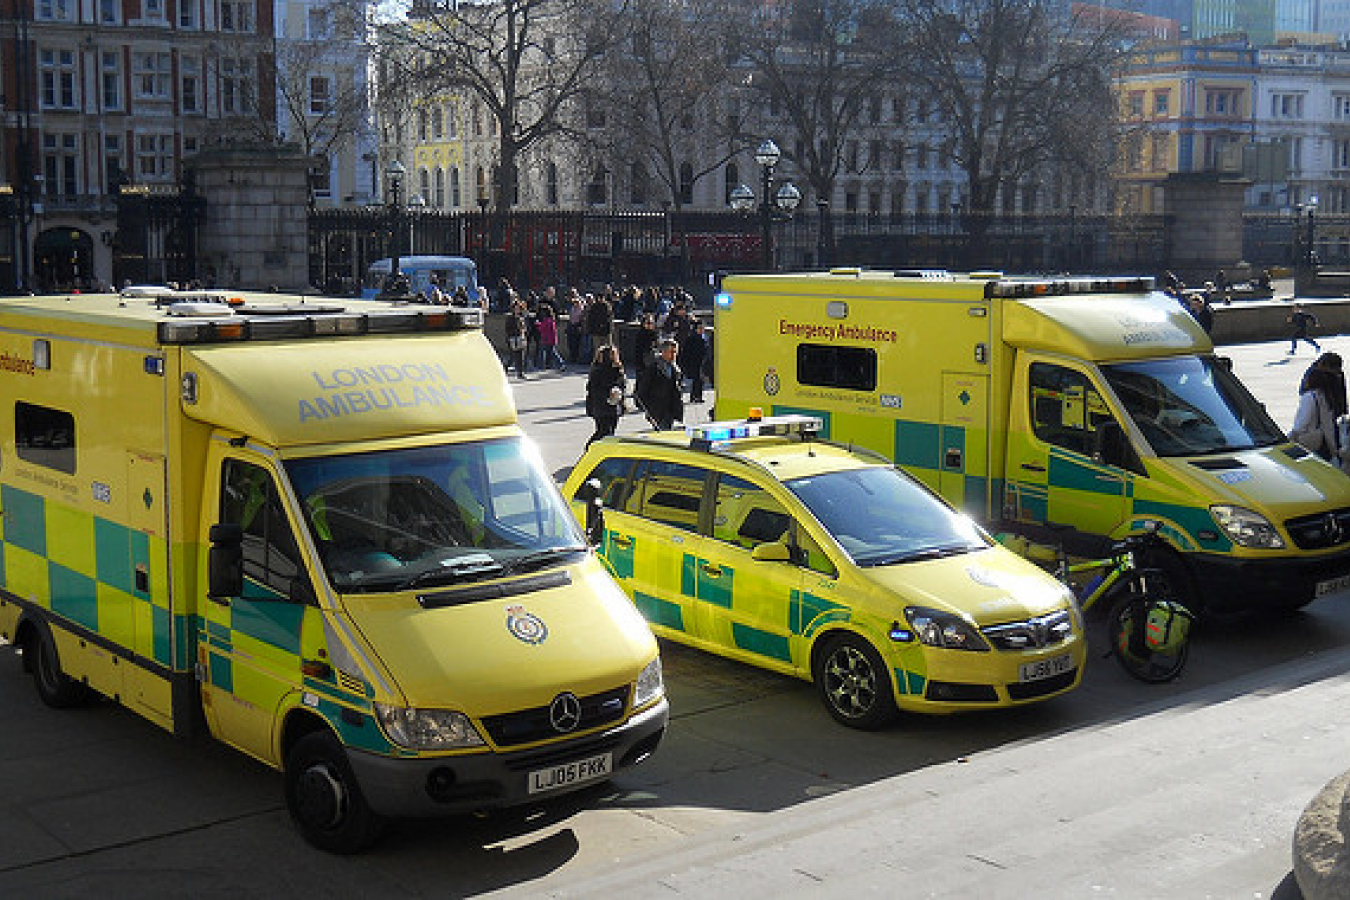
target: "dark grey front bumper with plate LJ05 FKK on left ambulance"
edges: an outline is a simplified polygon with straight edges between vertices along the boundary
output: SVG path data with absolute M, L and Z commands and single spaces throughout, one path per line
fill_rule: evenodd
M 613 729 L 514 753 L 393 758 L 348 749 L 371 810 L 425 818 L 516 806 L 603 781 L 649 757 L 666 733 L 663 698 Z

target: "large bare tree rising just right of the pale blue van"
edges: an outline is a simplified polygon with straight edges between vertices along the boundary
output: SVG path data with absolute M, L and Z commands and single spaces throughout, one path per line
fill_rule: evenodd
M 410 65 L 394 73 L 421 97 L 470 94 L 495 120 L 494 209 L 516 200 L 521 155 L 540 142 L 580 136 L 572 108 L 585 99 L 620 28 L 610 0 L 420 3 L 392 26 Z

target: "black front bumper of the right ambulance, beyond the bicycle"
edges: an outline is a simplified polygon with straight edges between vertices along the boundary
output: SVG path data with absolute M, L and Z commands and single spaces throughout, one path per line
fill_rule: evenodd
M 1291 609 L 1350 587 L 1350 549 L 1308 559 L 1188 557 L 1204 609 L 1239 613 Z

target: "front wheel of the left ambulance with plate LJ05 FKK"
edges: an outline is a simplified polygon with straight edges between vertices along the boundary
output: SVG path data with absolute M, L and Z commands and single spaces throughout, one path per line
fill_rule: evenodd
M 306 734 L 286 754 L 286 807 L 305 841 L 340 855 L 370 847 L 385 827 L 329 731 Z

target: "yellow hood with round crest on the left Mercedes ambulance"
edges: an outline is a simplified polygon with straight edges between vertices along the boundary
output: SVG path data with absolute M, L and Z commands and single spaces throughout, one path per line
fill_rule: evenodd
M 456 602 L 456 590 L 483 588 Z M 501 594 L 501 596 L 491 596 Z M 547 706 L 637 680 L 656 638 L 594 556 L 520 579 L 382 598 L 348 598 L 410 707 L 473 718 Z

